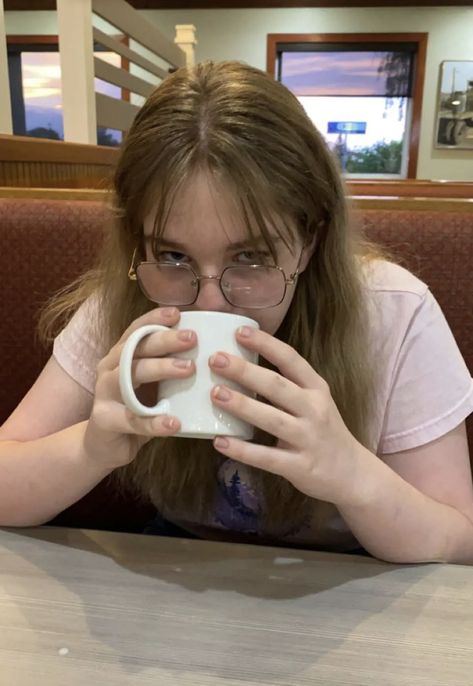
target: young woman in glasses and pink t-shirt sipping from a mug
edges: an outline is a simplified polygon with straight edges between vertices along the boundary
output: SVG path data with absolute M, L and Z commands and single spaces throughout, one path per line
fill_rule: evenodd
M 46 313 L 47 331 L 74 315 L 1 429 L 0 524 L 48 521 L 113 473 L 197 536 L 473 562 L 470 374 L 428 287 L 349 223 L 296 98 L 240 63 L 180 69 L 138 113 L 114 190 L 101 261 Z M 243 307 L 222 274 L 248 265 L 261 278 Z M 185 309 L 259 322 L 237 334 L 259 366 L 209 360 L 256 394 L 212 392 L 255 441 L 179 439 L 179 417 L 123 405 L 124 341 Z M 143 397 L 191 376 L 173 355 L 195 345 L 192 331 L 145 339 Z

